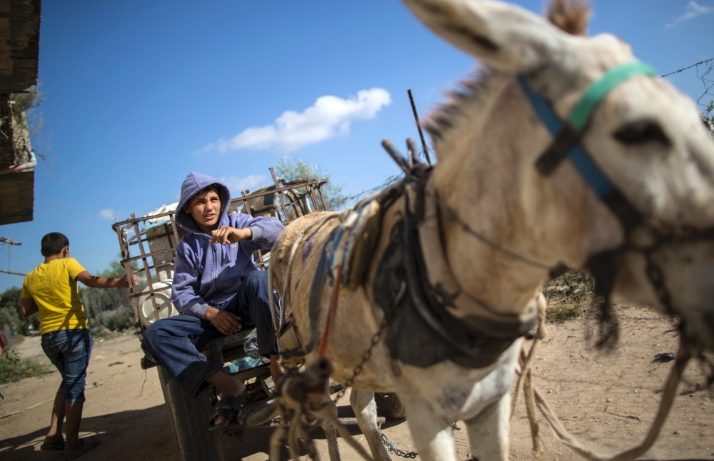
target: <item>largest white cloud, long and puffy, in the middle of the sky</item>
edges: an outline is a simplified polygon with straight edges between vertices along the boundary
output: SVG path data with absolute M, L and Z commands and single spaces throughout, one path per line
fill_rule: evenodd
M 292 151 L 349 133 L 353 120 L 373 118 L 383 106 L 391 103 L 389 92 L 383 88 L 362 90 L 356 97 L 347 99 L 321 96 L 301 113 L 285 111 L 272 125 L 246 128 L 233 138 L 221 138 L 208 144 L 201 151 L 223 153 L 273 147 Z

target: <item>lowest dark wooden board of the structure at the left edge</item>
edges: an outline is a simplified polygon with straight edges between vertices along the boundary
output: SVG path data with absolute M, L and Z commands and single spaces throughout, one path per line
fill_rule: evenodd
M 35 172 L 0 175 L 0 225 L 32 221 Z

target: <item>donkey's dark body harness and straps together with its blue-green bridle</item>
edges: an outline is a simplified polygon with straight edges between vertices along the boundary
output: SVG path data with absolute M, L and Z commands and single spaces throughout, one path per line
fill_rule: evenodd
M 591 255 L 588 259 L 587 267 L 595 278 L 596 293 L 603 295 L 605 304 L 609 306 L 618 258 L 627 251 L 637 251 L 647 260 L 647 275 L 660 302 L 673 314 L 675 310 L 671 305 L 663 271 L 651 255 L 665 244 L 712 240 L 714 228 L 668 226 L 649 220 L 600 170 L 581 142 L 593 112 L 608 93 L 620 83 L 639 75 L 656 76 L 656 73 L 648 64 L 638 62 L 620 64 L 610 69 L 583 93 L 565 121 L 553 111 L 548 100 L 531 87 L 526 74 L 518 74 L 518 83 L 540 121 L 554 136 L 553 143 L 538 158 L 535 168 L 543 176 L 550 176 L 567 158 L 623 226 L 625 241 L 622 245 Z M 428 187 L 431 166 L 419 163 L 414 156 L 406 162 L 403 158 L 397 158 L 393 148 L 385 147 L 405 172 L 402 181 L 375 199 L 379 201 L 382 215 L 398 198 L 403 197 L 405 202 L 403 218 L 391 229 L 390 243 L 378 264 L 373 283 L 375 301 L 386 316 L 386 345 L 391 358 L 418 367 L 427 367 L 443 360 L 453 360 L 468 368 L 491 365 L 513 341 L 538 323 L 537 301 L 531 301 L 520 315 L 502 314 L 471 298 L 468 293 L 463 293 L 451 273 L 441 241 L 441 219 L 446 216 L 458 221 L 458 215 L 439 201 Z M 358 204 L 356 208 L 359 207 Z M 496 246 L 469 228 L 468 224 L 463 221 L 459 223 L 484 243 Z M 650 236 L 650 242 L 646 245 L 635 243 L 633 239 L 633 233 L 642 230 Z M 299 350 L 293 349 L 281 354 L 306 355 L 316 345 L 323 285 L 328 278 L 332 283 L 345 284 L 345 280 L 334 280 L 328 264 L 332 257 L 330 248 L 333 247 L 333 241 L 339 240 L 341 231 L 339 226 L 334 229 L 323 245 L 313 275 L 309 301 L 309 343 L 306 348 L 300 346 Z M 371 246 L 367 245 L 370 248 L 363 248 L 369 254 L 376 245 L 374 235 L 372 239 Z M 504 248 L 496 248 L 526 263 L 548 269 L 551 278 L 563 273 L 563 265 L 548 268 Z M 363 280 L 363 274 L 359 274 L 359 280 Z M 353 284 L 351 288 L 356 287 Z M 452 308 L 456 307 L 471 314 L 456 317 L 451 313 Z

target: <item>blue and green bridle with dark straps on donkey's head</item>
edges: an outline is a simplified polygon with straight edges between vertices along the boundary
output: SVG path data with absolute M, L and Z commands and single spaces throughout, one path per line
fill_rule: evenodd
M 714 240 L 714 228 L 656 223 L 640 213 L 620 188 L 615 186 L 597 166 L 582 143 L 583 135 L 600 103 L 610 91 L 634 76 L 657 76 L 657 73 L 649 64 L 640 62 L 615 66 L 585 90 L 565 121 L 553 111 L 550 102 L 531 87 L 526 74 L 518 74 L 518 82 L 528 101 L 531 102 L 533 111 L 555 137 L 553 143 L 535 162 L 535 168 L 543 176 L 550 176 L 560 163 L 568 158 L 593 193 L 618 218 L 623 228 L 625 242 L 622 245 L 590 255 L 586 263 L 595 278 L 595 292 L 603 295 L 605 299 L 603 314 L 608 315 L 606 308 L 609 306 L 610 293 L 617 273 L 617 259 L 626 252 L 635 252 L 645 258 L 646 274 L 660 303 L 670 315 L 676 315 L 664 272 L 655 262 L 653 253 L 666 244 Z

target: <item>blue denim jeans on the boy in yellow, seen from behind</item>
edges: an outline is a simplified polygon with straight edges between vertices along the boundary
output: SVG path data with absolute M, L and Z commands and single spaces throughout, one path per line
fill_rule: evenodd
M 42 350 L 62 375 L 57 390 L 65 403 L 84 402 L 87 366 L 94 340 L 86 328 L 50 331 L 42 335 Z

